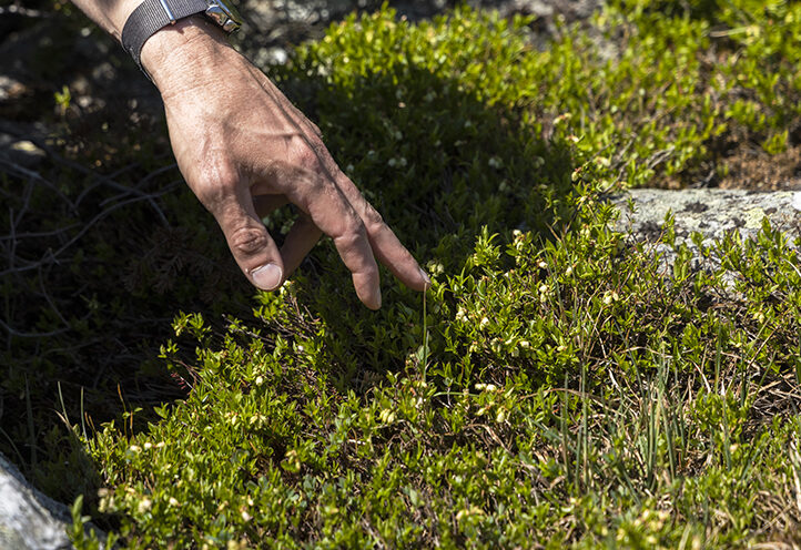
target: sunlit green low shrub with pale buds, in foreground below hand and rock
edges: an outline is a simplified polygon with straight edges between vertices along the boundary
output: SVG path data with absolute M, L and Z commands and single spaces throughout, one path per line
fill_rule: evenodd
M 665 277 L 588 215 L 484 233 L 424 318 L 391 306 L 409 344 L 383 375 L 351 374 L 371 342 L 296 284 L 223 333 L 180 315 L 194 345 L 163 354 L 189 395 L 88 442 L 100 510 L 134 548 L 728 548 L 795 526 L 795 253 L 765 227 Z

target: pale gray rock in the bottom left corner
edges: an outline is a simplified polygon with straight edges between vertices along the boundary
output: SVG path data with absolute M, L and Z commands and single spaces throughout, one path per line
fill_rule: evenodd
M 72 548 L 67 536 L 70 512 L 31 487 L 0 455 L 0 550 Z

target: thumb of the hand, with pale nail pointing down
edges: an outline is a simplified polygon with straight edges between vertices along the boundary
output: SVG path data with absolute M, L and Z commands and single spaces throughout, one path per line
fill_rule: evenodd
M 250 197 L 249 197 L 250 198 Z M 236 203 L 216 216 L 234 259 L 257 288 L 274 291 L 284 281 L 284 262 L 253 202 Z

